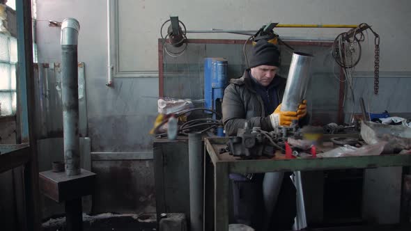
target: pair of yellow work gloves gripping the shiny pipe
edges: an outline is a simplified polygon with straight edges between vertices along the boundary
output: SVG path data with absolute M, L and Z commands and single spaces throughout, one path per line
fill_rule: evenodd
M 281 111 L 281 104 L 279 104 L 277 109 L 270 115 L 270 121 L 272 127 L 290 126 L 293 120 L 299 120 L 305 115 L 307 115 L 307 100 L 299 104 L 295 111 Z

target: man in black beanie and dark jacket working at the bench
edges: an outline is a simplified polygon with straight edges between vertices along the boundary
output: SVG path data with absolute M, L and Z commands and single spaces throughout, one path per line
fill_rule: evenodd
M 231 79 L 224 91 L 222 113 L 227 136 L 236 136 L 239 128 L 261 127 L 270 132 L 277 126 L 288 126 L 307 115 L 304 100 L 295 111 L 281 111 L 286 79 L 276 76 L 279 70 L 279 50 L 266 40 L 258 40 L 252 49 L 249 69 L 240 79 Z M 231 174 L 233 182 L 234 217 L 236 223 L 262 230 L 290 230 L 296 214 L 296 195 L 290 174 L 284 175 L 277 203 L 271 217 L 265 217 L 262 174 Z M 274 205 L 272 205 L 274 206 Z

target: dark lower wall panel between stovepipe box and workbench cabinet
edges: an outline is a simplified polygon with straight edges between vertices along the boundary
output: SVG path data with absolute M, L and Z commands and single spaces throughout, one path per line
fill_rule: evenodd
M 93 161 L 93 173 L 93 213 L 155 212 L 153 161 Z

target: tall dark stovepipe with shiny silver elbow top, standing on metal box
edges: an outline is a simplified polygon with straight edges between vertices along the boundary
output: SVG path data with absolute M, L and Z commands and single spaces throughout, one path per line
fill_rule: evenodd
M 61 99 L 63 104 L 64 162 L 66 175 L 80 174 L 79 87 L 77 42 L 80 25 L 66 18 L 61 24 Z

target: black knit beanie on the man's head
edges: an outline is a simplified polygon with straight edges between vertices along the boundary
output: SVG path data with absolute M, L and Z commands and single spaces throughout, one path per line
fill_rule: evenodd
M 251 51 L 249 68 L 259 65 L 279 67 L 280 52 L 276 45 L 266 40 L 258 40 Z

